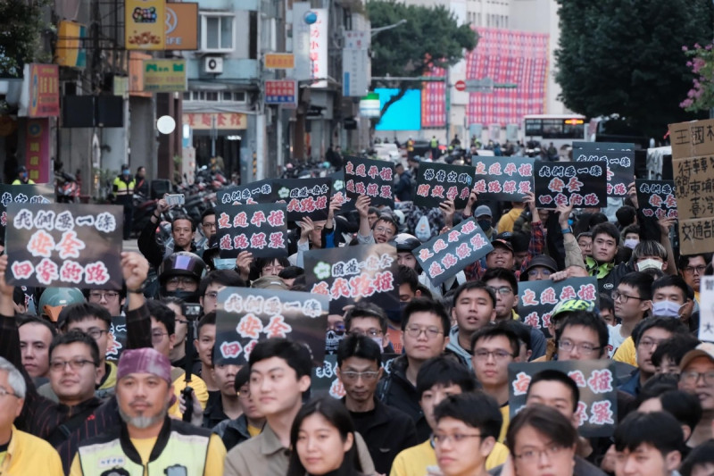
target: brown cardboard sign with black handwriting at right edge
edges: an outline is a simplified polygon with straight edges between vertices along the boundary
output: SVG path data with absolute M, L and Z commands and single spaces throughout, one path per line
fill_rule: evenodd
M 679 250 L 714 251 L 714 120 L 669 124 Z

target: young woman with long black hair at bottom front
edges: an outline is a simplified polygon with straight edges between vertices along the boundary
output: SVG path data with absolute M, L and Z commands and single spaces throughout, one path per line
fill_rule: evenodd
M 321 397 L 304 405 L 290 430 L 290 465 L 287 476 L 355 476 L 354 425 L 339 400 Z

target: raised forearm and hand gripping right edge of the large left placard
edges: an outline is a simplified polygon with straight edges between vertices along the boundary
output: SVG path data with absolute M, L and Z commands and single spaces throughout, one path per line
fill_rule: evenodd
M 151 316 L 143 289 L 149 263 L 134 252 L 121 254 L 121 273 L 127 287 L 127 348 L 152 347 Z

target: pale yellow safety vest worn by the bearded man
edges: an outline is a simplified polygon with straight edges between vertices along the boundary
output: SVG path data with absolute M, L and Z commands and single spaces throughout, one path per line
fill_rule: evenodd
M 79 447 L 82 473 L 85 476 L 99 476 L 110 474 L 109 470 L 123 469 L 130 476 L 202 475 L 208 456 L 210 432 L 179 421 L 167 424 L 170 427 L 164 425 L 152 450 L 153 459 L 146 465 L 142 464 L 136 448 L 124 433 L 126 430 L 122 429 L 114 432 L 112 436 L 93 438 L 91 444 Z M 122 438 L 125 439 L 123 442 Z M 161 453 L 154 455 L 157 450 Z

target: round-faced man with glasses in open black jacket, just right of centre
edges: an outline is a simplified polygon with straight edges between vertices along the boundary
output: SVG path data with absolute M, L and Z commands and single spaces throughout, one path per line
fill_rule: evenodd
M 392 372 L 379 382 L 378 398 L 411 416 L 419 441 L 427 439 L 431 430 L 419 405 L 417 374 L 423 363 L 444 352 L 449 326 L 443 305 L 425 297 L 412 299 L 402 317 L 404 355 L 394 359 Z

